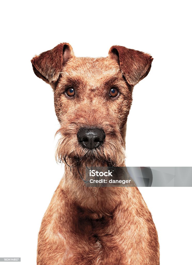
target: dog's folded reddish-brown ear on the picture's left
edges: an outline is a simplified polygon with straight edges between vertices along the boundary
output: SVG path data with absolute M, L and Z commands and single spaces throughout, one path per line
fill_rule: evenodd
M 63 65 L 71 57 L 74 57 L 71 45 L 60 43 L 52 50 L 36 55 L 31 63 L 36 76 L 51 84 L 58 80 Z

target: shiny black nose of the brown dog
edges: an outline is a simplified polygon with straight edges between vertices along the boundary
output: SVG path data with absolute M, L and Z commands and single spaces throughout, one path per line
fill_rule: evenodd
M 93 149 L 103 143 L 105 132 L 99 128 L 82 128 L 79 129 L 77 138 L 84 147 Z

